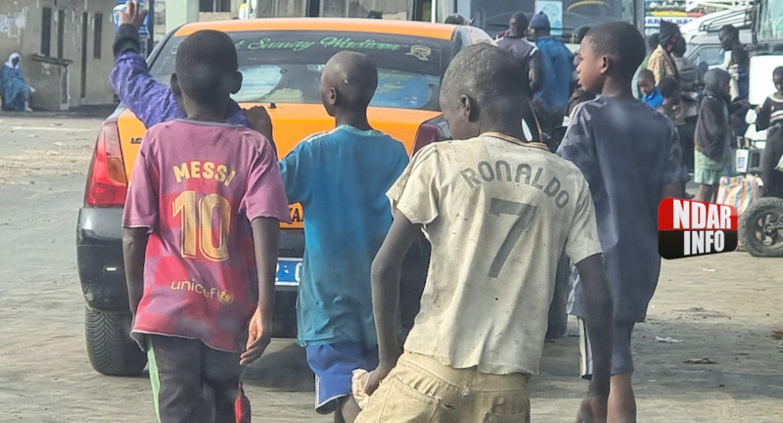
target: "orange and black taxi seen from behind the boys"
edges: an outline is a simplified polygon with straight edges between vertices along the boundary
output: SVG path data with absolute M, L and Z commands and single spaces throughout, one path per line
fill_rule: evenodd
M 274 123 L 278 155 L 283 157 L 307 136 L 333 128 L 321 104 L 319 81 L 326 61 L 337 51 L 368 54 L 378 66 L 379 84 L 368 110 L 377 129 L 399 139 L 410 154 L 449 137 L 438 105 L 441 77 L 463 47 L 493 42 L 479 28 L 364 19 L 256 19 L 187 24 L 169 34 L 148 60 L 150 73 L 167 83 L 177 47 L 202 29 L 228 33 L 237 46 L 242 89 L 234 99 L 243 107 L 265 106 Z M 130 308 L 122 259 L 122 207 L 127 181 L 145 128 L 124 105 L 103 123 L 90 164 L 84 206 L 77 222 L 77 262 L 86 302 L 87 352 L 93 368 L 110 375 L 134 375 L 146 356 L 130 339 Z M 276 283 L 274 332 L 296 334 L 296 290 L 304 233 L 302 209 L 291 206 L 293 224 L 282 225 Z M 408 289 L 423 288 L 427 245 L 409 256 Z M 421 253 L 417 254 L 416 253 Z M 418 307 L 402 308 L 412 319 Z M 411 322 L 409 322 L 410 324 Z

